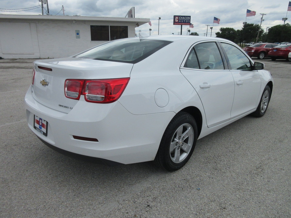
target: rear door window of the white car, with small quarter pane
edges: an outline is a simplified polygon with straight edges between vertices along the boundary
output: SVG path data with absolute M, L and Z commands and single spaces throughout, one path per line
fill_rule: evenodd
M 195 45 L 189 53 L 184 67 L 203 70 L 225 69 L 215 42 L 204 42 Z

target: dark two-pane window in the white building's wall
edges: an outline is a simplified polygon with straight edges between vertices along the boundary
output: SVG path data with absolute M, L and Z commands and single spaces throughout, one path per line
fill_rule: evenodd
M 90 25 L 91 41 L 112 41 L 128 38 L 128 26 Z

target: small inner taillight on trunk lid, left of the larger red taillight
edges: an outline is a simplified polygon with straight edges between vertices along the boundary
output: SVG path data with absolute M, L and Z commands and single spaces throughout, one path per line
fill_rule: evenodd
M 67 98 L 79 100 L 84 80 L 66 80 L 65 81 L 65 96 Z

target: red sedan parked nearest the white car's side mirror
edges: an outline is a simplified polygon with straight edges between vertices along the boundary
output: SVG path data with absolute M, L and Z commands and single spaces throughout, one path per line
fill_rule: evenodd
M 258 43 L 250 47 L 244 47 L 243 50 L 250 57 L 257 57 L 258 59 L 263 59 L 268 55 L 270 49 L 275 46 L 277 45 L 273 43 Z

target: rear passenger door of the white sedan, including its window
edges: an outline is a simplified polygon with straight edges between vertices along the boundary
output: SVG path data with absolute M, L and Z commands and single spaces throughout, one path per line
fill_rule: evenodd
M 180 68 L 181 73 L 198 93 L 208 127 L 230 119 L 234 81 L 225 69 L 225 59 L 214 41 L 194 45 Z

